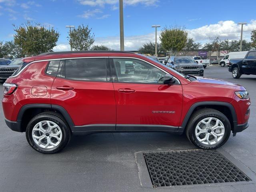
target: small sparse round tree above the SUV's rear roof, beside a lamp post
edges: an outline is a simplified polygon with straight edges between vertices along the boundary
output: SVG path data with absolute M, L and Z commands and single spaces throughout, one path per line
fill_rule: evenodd
M 94 34 L 88 25 L 72 29 L 68 35 L 69 44 L 76 51 L 89 50 L 94 43 Z

